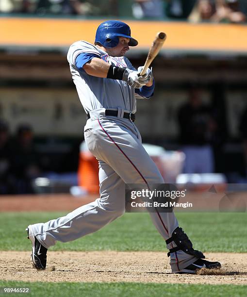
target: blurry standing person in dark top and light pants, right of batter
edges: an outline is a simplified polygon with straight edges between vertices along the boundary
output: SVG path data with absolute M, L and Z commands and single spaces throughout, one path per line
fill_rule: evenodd
M 211 146 L 216 123 L 211 107 L 201 100 L 201 90 L 192 88 L 189 100 L 178 113 L 180 140 L 186 159 L 184 173 L 214 172 L 214 153 Z

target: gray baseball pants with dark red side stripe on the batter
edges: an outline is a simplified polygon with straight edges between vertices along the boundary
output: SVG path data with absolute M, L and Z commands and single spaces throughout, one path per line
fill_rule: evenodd
M 64 217 L 32 225 L 34 236 L 46 248 L 55 245 L 57 240 L 68 242 L 95 232 L 124 214 L 125 183 L 164 183 L 143 148 L 134 123 L 122 117 L 106 117 L 104 109 L 90 112 L 90 116 L 84 137 L 88 149 L 99 161 L 100 197 Z M 164 239 L 178 227 L 174 213 L 150 215 Z M 166 247 L 176 247 L 176 244 L 173 242 Z M 196 259 L 181 250 L 174 252 L 170 259 L 172 271 L 179 271 Z

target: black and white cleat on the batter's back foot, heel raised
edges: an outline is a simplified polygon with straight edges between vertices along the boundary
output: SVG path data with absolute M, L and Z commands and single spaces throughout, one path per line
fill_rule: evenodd
M 27 238 L 32 241 L 32 260 L 33 260 L 33 266 L 37 270 L 44 270 L 46 269 L 46 253 L 47 248 L 43 247 L 37 238 L 33 235 L 32 225 L 29 225 L 26 229 L 28 232 Z

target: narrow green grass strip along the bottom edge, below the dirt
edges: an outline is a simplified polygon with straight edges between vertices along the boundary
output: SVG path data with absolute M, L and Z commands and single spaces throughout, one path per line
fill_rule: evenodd
M 240 297 L 247 295 L 247 286 L 244 285 L 194 285 L 194 284 L 160 284 L 160 283 L 83 283 L 83 282 L 21 282 L 0 281 L 0 287 L 30 288 L 25 296 L 55 297 L 55 296 L 94 296 L 94 297 Z M 24 295 L 24 294 L 19 294 Z M 4 294 L 3 296 L 16 296 Z

